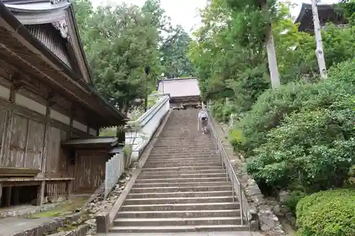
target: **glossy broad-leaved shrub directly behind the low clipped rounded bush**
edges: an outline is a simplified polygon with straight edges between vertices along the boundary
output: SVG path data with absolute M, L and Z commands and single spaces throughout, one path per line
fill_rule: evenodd
M 287 116 L 248 159 L 256 181 L 274 188 L 300 184 L 313 192 L 344 184 L 355 163 L 355 113 L 320 108 Z

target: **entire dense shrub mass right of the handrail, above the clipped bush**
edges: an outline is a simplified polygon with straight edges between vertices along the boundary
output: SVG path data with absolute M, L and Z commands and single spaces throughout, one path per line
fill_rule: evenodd
M 338 188 L 355 164 L 355 60 L 332 67 L 317 84 L 267 91 L 236 127 L 258 184 L 312 193 Z M 248 157 L 248 156 L 247 156 Z

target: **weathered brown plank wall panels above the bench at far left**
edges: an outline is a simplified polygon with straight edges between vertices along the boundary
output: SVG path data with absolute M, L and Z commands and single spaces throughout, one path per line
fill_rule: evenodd
M 49 174 L 66 171 L 66 158 L 60 148 L 60 142 L 67 137 L 65 131 L 50 125 L 45 128 L 45 123 L 0 107 L 0 132 L 1 167 L 41 169 Z

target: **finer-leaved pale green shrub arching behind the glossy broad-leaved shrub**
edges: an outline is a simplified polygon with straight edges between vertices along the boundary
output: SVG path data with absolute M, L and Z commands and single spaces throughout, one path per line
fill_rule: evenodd
M 329 106 L 335 100 L 337 94 L 333 93 L 333 88 L 327 89 L 324 84 L 287 84 L 277 90 L 270 89 L 259 97 L 241 122 L 234 125 L 234 129 L 243 134 L 234 145 L 238 150 L 252 154 L 256 147 L 267 141 L 268 131 L 278 127 L 288 114 L 304 107 Z

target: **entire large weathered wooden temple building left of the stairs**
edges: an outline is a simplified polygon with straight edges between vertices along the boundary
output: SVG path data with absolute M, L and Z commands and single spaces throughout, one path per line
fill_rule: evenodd
M 93 192 L 119 142 L 99 128 L 125 116 L 94 89 L 72 4 L 0 1 L 0 65 L 0 206 Z

